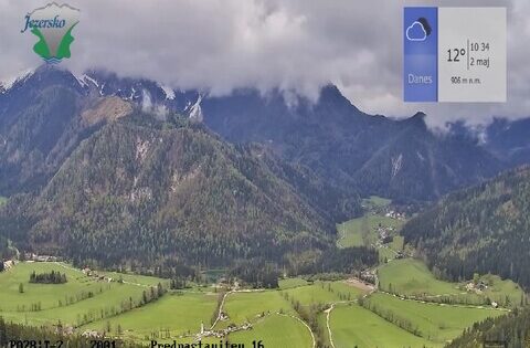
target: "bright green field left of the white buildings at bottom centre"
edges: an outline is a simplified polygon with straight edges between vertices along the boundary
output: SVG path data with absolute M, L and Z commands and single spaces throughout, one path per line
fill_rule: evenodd
M 168 294 L 159 300 L 132 309 L 108 320 L 98 320 L 83 327 L 116 334 L 121 330 L 127 338 L 148 340 L 160 331 L 169 330 L 172 337 L 199 333 L 201 323 L 210 327 L 210 318 L 215 310 L 215 294 Z

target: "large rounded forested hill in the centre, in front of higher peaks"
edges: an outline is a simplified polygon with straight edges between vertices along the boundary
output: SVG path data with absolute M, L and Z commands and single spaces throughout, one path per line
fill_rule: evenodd
M 324 189 L 258 147 L 135 114 L 84 140 L 42 192 L 12 197 L 0 235 L 77 263 L 280 262 L 332 245 Z

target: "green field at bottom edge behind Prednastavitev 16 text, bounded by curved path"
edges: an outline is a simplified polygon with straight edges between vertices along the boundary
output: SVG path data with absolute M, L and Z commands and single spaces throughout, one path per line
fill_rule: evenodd
M 265 317 L 252 330 L 231 334 L 229 339 L 233 344 L 244 344 L 245 347 L 253 347 L 254 340 L 262 340 L 264 347 L 312 347 L 311 335 L 304 324 L 278 314 Z

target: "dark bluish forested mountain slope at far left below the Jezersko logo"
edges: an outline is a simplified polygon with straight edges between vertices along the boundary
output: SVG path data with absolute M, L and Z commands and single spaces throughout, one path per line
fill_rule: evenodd
M 80 141 L 130 109 L 86 95 L 66 71 L 43 66 L 18 81 L 0 94 L 0 196 L 42 188 Z

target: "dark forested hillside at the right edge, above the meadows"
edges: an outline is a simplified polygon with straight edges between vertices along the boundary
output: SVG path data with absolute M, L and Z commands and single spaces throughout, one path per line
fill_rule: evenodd
M 448 194 L 402 234 L 435 273 L 453 280 L 491 272 L 530 286 L 530 168 Z

